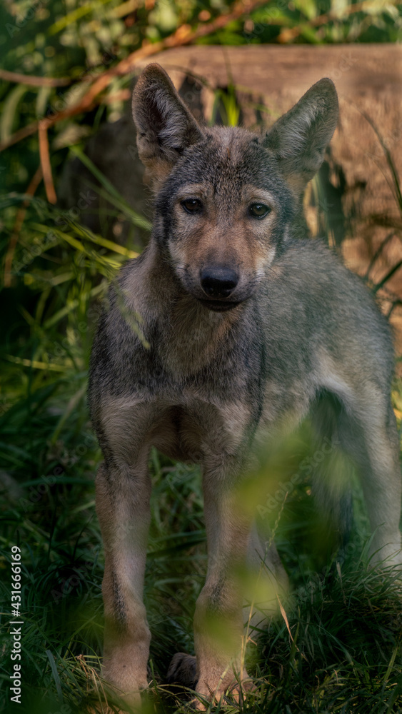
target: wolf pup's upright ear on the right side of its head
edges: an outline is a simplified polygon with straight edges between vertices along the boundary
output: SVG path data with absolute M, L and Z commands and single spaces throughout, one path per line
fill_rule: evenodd
M 281 116 L 263 139 L 291 186 L 300 193 L 320 168 L 338 121 L 338 95 L 331 79 L 320 79 Z

